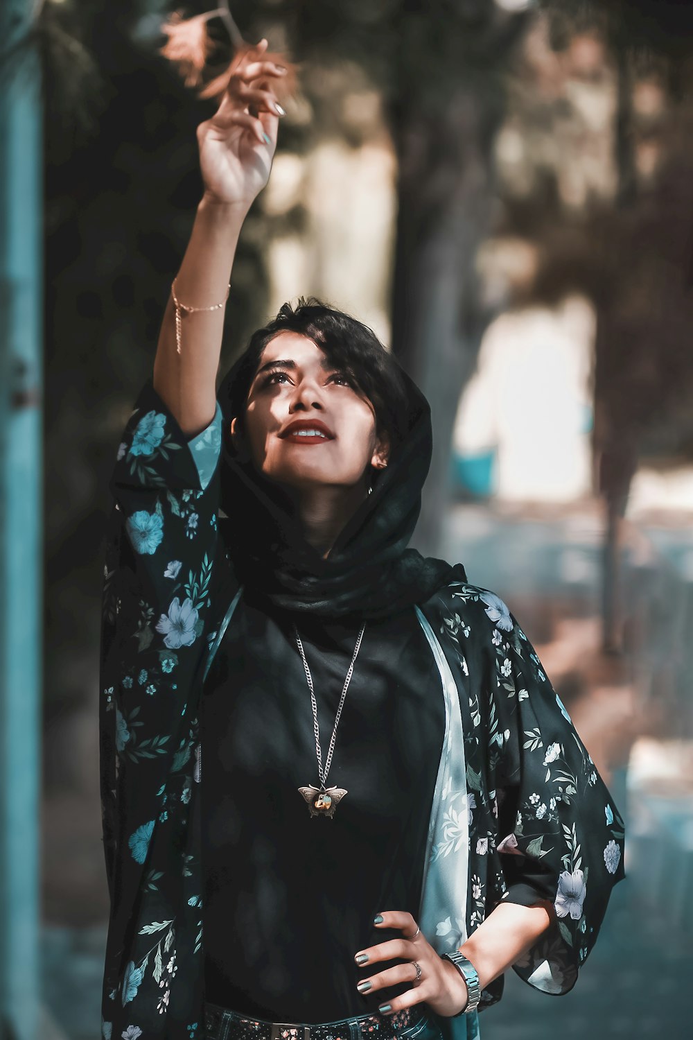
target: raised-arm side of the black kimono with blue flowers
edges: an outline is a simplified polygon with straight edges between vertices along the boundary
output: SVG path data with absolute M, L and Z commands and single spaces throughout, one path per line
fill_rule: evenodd
M 195 872 L 181 835 L 188 833 L 195 782 L 195 677 L 213 627 L 211 586 L 220 566 L 220 435 L 217 406 L 210 425 L 186 439 L 149 381 L 109 486 L 99 712 L 111 901 L 105 1040 L 111 1034 L 146 1040 L 162 1029 L 175 1035 L 163 1024 L 170 981 L 180 957 L 192 953 L 181 947 L 201 915 L 201 893 L 188 890 Z M 183 1009 L 177 1021 L 192 1040 Z

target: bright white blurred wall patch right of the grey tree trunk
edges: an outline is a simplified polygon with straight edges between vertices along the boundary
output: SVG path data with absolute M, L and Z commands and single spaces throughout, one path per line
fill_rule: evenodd
M 570 501 L 591 477 L 594 312 L 580 295 L 508 312 L 488 328 L 462 394 L 454 449 L 495 451 L 496 497 Z

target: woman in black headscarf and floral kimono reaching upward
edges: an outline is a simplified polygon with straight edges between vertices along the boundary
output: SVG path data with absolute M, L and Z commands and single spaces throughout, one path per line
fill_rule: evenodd
M 623 825 L 505 603 L 407 549 L 430 414 L 373 333 L 285 305 L 215 390 L 282 114 L 265 47 L 199 128 L 111 480 L 102 1032 L 461 1040 L 509 966 L 575 985 Z

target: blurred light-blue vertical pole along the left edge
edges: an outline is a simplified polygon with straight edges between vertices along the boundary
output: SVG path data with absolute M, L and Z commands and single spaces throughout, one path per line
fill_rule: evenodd
M 31 0 L 0 2 L 0 47 Z M 0 53 L 0 1038 L 36 1040 L 41 999 L 42 105 L 33 49 Z

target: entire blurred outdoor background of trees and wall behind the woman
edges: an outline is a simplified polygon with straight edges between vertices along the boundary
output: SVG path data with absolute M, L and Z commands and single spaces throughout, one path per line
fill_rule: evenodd
M 507 600 L 627 815 L 628 880 L 576 989 L 557 1000 L 509 971 L 482 1036 L 688 1038 L 693 5 L 231 8 L 301 69 L 221 371 L 301 294 L 372 327 L 433 409 L 415 544 Z M 2 1040 L 100 1029 L 107 485 L 215 107 L 159 53 L 172 9 L 0 12 Z

